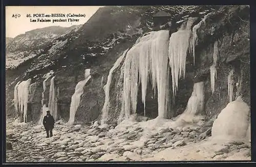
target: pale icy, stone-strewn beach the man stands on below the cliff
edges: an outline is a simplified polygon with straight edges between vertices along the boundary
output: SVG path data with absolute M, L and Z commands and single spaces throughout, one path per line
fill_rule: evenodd
M 149 132 L 141 123 L 146 122 L 114 128 L 97 122 L 68 126 L 59 120 L 53 137 L 46 138 L 42 125 L 10 119 L 7 162 L 250 160 L 249 141 L 214 139 L 192 126 Z

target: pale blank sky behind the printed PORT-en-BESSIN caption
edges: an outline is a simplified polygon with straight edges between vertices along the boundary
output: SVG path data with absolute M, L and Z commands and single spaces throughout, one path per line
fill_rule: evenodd
M 6 37 L 14 38 L 19 34 L 47 26 L 64 26 L 84 24 L 102 6 L 7 6 L 6 7 Z M 34 14 L 66 14 L 66 17 L 33 17 Z M 67 14 L 84 14 L 85 17 L 67 17 Z M 20 17 L 15 18 L 15 14 Z M 31 17 L 27 17 L 30 14 Z M 14 15 L 14 17 L 13 17 Z M 18 16 L 18 15 L 17 15 Z M 51 19 L 51 22 L 31 22 L 37 19 Z M 52 19 L 79 19 L 77 22 L 52 22 Z

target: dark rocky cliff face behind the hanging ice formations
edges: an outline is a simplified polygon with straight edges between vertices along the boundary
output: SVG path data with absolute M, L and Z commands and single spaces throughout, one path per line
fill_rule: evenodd
M 42 81 L 45 79 L 42 76 L 53 70 L 55 87 L 58 90 L 58 113 L 60 118 L 68 121 L 71 96 L 75 91 L 75 86 L 78 81 L 84 79 L 84 69 L 90 68 L 92 78 L 84 87 L 76 111 L 75 123 L 91 123 L 96 119 L 100 120 L 105 98 L 103 86 L 106 84 L 110 69 L 123 51 L 131 48 L 139 36 L 152 30 L 151 26 L 147 26 L 149 24 L 147 20 L 152 20 L 152 15 L 161 9 L 162 7 L 101 8 L 79 31 L 57 40 L 68 41 L 62 49 L 50 53 L 53 46 L 51 44 L 45 50 L 49 54 L 47 59 L 39 55 L 37 60 L 31 61 L 32 65 L 24 64 L 19 69 L 7 71 L 7 115 L 15 115 L 12 99 L 17 81 L 32 78 L 31 83 L 36 82 L 36 86 L 33 98 L 29 102 L 28 113 L 31 115 L 30 120 L 38 122 L 42 107 Z M 202 12 L 196 9 L 199 10 L 196 7 L 191 10 L 198 13 Z M 198 44 L 195 47 L 195 65 L 193 64 L 193 56 L 187 55 L 185 78 L 179 81 L 175 101 L 170 100 L 172 107 L 168 108 L 168 118 L 184 112 L 187 101 L 193 92 L 193 85 L 199 81 L 204 81 L 205 85 L 205 105 L 201 114 L 206 115 L 206 118 L 212 118 L 219 114 L 229 102 L 228 75 L 231 69 L 234 70 L 233 98 L 235 98 L 239 88 L 236 87 L 236 83 L 238 79 L 241 79 L 242 87 L 239 95 L 242 95 L 244 101 L 250 105 L 249 7 L 229 6 L 210 9 L 212 13 L 205 20 L 205 24 L 203 23 L 200 26 L 197 33 Z M 184 9 L 174 10 L 169 7 L 165 10 L 179 15 Z M 198 14 L 197 17 L 196 23 L 200 21 L 202 16 Z M 102 24 L 102 20 L 108 20 L 108 22 Z M 77 38 L 72 38 L 74 36 Z M 216 41 L 218 41 L 219 55 L 216 65 L 215 92 L 212 94 L 210 66 L 214 61 L 213 54 Z M 44 64 L 38 66 L 38 62 Z M 50 65 L 46 66 L 48 63 Z M 118 116 L 121 112 L 121 101 L 119 99 L 122 97 L 120 95 L 122 88 L 119 86 L 124 79 L 120 77 L 122 65 L 123 62 L 114 70 L 112 76 L 108 123 L 118 122 Z M 49 89 L 50 79 L 46 81 L 44 104 L 48 104 Z M 170 87 L 171 96 L 173 96 L 172 91 L 172 87 Z M 157 97 L 157 94 L 154 96 L 152 86 L 149 84 L 145 106 L 147 117 L 156 118 L 158 116 Z M 141 89 L 138 93 L 137 113 L 144 115 L 144 106 L 140 99 Z

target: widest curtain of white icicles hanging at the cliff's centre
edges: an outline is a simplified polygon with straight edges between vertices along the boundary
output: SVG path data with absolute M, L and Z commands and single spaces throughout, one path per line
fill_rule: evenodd
M 136 113 L 139 82 L 145 106 L 147 82 L 158 88 L 158 115 L 165 117 L 168 103 L 168 31 L 146 33 L 127 51 L 124 61 L 123 107 L 125 118 Z

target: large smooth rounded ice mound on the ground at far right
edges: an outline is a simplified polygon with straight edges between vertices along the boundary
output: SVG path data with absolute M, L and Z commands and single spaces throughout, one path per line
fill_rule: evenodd
M 241 96 L 229 102 L 212 124 L 212 137 L 245 138 L 250 124 L 249 112 L 250 108 Z

